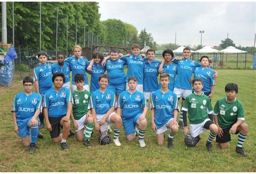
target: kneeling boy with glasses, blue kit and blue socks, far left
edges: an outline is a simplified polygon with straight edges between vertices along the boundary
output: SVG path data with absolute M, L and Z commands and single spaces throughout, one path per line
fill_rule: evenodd
M 32 91 L 33 79 L 29 76 L 23 79 L 23 88 L 24 91 L 15 96 L 11 112 L 16 134 L 21 137 L 25 147 L 29 146 L 29 153 L 33 153 L 36 151 L 42 100 L 39 94 Z

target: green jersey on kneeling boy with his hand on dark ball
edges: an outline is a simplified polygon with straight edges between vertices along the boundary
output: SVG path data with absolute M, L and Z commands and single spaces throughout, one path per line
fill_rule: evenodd
M 213 113 L 211 101 L 205 94 L 192 93 L 186 97 L 182 110 L 188 112 L 190 124 L 199 124 L 208 119 L 208 114 Z

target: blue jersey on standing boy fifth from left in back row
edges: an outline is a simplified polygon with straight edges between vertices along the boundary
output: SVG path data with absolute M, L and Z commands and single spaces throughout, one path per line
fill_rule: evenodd
M 106 70 L 107 76 L 109 77 L 109 84 L 111 85 L 120 85 L 120 83 L 125 82 L 125 73 L 124 66 L 126 61 L 123 59 L 112 60 L 109 59 L 106 61 Z

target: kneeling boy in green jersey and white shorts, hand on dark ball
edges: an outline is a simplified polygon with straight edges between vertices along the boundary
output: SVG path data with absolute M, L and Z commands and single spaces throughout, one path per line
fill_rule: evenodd
M 212 141 L 217 136 L 218 127 L 213 123 L 213 109 L 210 99 L 202 93 L 203 83 L 200 79 L 194 79 L 192 82 L 194 93 L 188 95 L 183 106 L 183 122 L 184 135 L 188 134 L 187 128 L 187 112 L 190 120 L 190 135 L 196 138 L 196 147 L 199 145 L 200 134 L 206 130 L 210 130 L 206 147 L 208 151 L 212 151 Z

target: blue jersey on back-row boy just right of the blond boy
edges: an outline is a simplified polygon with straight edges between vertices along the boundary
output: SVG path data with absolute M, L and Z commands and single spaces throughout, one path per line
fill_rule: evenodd
M 90 64 L 91 61 L 89 61 Z M 91 85 L 90 85 L 90 92 L 94 92 L 99 89 L 99 76 L 104 74 L 106 68 L 102 66 L 102 62 L 98 64 L 94 63 L 92 65 L 92 71 L 86 71 L 87 73 L 91 74 Z

